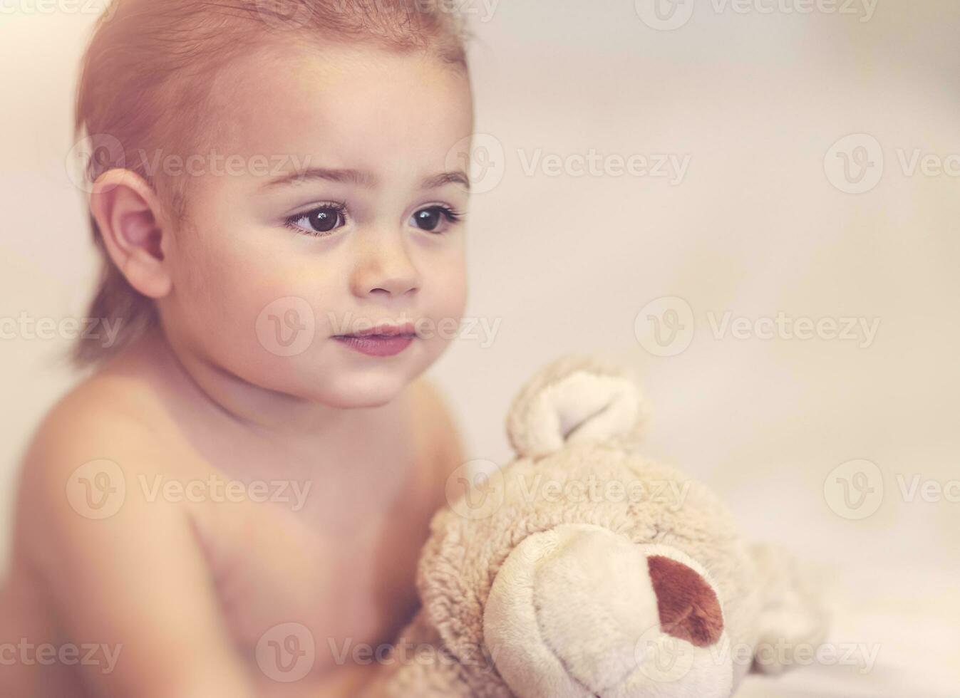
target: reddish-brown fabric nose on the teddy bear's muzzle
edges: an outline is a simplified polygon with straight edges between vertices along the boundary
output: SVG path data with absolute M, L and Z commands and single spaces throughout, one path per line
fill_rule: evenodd
M 695 647 L 709 647 L 720 640 L 723 613 L 707 581 L 683 563 L 662 555 L 649 557 L 647 566 L 657 593 L 660 629 Z

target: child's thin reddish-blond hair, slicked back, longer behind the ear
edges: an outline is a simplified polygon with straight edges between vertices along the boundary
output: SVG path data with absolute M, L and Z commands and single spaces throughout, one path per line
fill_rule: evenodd
M 214 126 L 206 85 L 223 66 L 256 46 L 317 39 L 430 51 L 467 70 L 467 30 L 444 0 L 114 0 L 81 66 L 74 137 L 92 153 L 84 178 L 132 170 L 154 188 L 171 220 L 183 222 L 181 182 L 153 176 L 135 153 L 196 149 Z M 120 329 L 110 347 L 79 339 L 72 360 L 81 367 L 106 361 L 158 324 L 153 299 L 127 282 L 92 214 L 89 220 L 102 271 L 87 316 Z

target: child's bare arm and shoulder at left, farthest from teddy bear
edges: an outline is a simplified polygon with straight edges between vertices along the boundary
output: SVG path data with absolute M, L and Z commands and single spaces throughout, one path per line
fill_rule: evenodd
M 73 644 L 107 645 L 115 656 L 113 666 L 81 666 L 93 695 L 252 698 L 186 509 L 147 500 L 137 480 L 166 472 L 163 453 L 163 444 L 123 415 L 55 412 L 24 470 L 17 522 L 23 549 L 60 632 Z M 98 481 L 96 468 L 83 474 L 85 482 L 76 475 L 98 458 L 123 471 L 125 496 L 108 492 L 119 477 Z M 105 497 L 123 503 L 108 518 L 94 518 L 115 506 Z

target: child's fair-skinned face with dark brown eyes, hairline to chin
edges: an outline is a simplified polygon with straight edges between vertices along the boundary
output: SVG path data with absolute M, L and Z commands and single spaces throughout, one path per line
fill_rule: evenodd
M 467 302 L 454 219 L 468 204 L 468 79 L 420 54 L 287 46 L 231 65 L 213 91 L 218 132 L 167 252 L 168 331 L 252 384 L 336 407 L 389 401 L 444 352 Z M 334 338 L 404 322 L 420 336 L 393 355 Z

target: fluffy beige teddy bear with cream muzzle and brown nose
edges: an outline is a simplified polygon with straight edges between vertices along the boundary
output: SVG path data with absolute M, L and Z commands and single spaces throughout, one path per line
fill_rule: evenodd
M 420 557 L 419 614 L 377 695 L 720 698 L 815 648 L 798 566 L 748 547 L 702 483 L 636 453 L 629 373 L 554 361 L 507 419 L 516 460 L 469 477 Z

